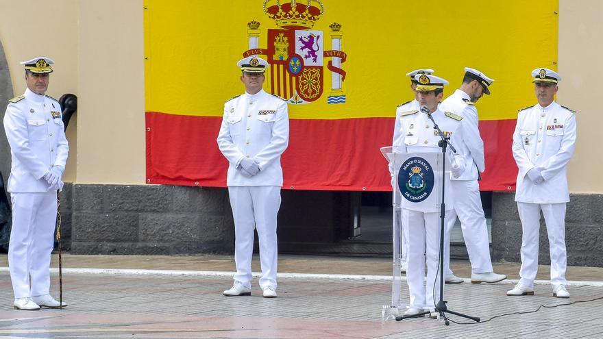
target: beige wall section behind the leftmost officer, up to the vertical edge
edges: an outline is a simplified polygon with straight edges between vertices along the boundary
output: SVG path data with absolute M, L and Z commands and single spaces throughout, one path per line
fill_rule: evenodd
M 44 0 L 0 0 L 0 41 L 8 61 L 14 95 L 25 92 L 25 72 L 19 62 L 40 55 L 56 62 L 47 95 L 56 99 L 65 93 L 77 95 L 78 7 L 77 0 L 53 1 L 51 5 Z M 32 8 L 44 8 L 44 15 L 32 16 Z M 77 118 L 72 118 L 66 133 L 71 149 L 65 181 L 76 179 L 76 131 Z

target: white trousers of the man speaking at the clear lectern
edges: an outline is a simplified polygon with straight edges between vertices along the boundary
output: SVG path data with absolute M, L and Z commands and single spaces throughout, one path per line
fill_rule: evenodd
M 433 308 L 439 300 L 440 230 L 439 212 L 425 213 L 402 210 L 402 223 L 408 228 L 406 278 L 410 291 L 410 306 Z M 449 211 L 447 211 L 449 212 Z M 445 239 L 444 239 L 445 241 Z M 427 285 L 425 261 L 427 260 Z M 435 301 L 435 302 L 434 302 Z

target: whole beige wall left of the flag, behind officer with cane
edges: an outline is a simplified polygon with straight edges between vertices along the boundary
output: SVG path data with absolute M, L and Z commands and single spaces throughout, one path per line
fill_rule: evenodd
M 145 184 L 143 40 L 142 0 L 0 0 L 15 94 L 25 90 L 19 62 L 45 55 L 56 62 L 47 94 L 77 95 L 65 181 Z

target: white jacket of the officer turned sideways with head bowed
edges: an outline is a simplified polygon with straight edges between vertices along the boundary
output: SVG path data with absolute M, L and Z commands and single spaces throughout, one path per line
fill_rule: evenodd
M 477 180 L 478 170 L 483 172 L 485 168 L 484 142 L 478 129 L 478 110 L 469 99 L 471 98 L 463 90 L 455 90 L 442 102 L 440 108 L 444 112 L 463 117 L 460 121 L 463 125 L 463 138 L 460 138 L 460 134 L 453 135 L 450 142 L 457 154 L 463 157 L 465 171 L 458 178 L 452 177 L 452 180 Z

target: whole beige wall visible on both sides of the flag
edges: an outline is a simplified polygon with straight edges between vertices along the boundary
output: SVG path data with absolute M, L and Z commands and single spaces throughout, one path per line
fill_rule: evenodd
M 46 11 L 36 16 L 42 25 L 25 25 L 23 18 L 40 6 Z M 596 81 L 603 79 L 603 1 L 560 0 L 559 8 L 558 71 L 563 81 L 558 102 L 578 111 L 570 190 L 601 193 L 603 151 L 597 138 L 603 118 Z M 0 0 L 0 40 L 15 93 L 25 90 L 19 62 L 47 55 L 57 62 L 49 95 L 71 92 L 79 98 L 77 118 L 67 131 L 71 152 L 66 181 L 144 184 L 143 1 Z

